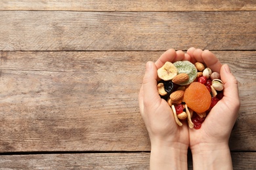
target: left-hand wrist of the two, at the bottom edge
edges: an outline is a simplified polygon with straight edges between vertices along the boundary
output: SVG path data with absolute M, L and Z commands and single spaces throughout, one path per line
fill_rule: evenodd
M 187 169 L 188 146 L 154 143 L 150 152 L 150 169 Z

